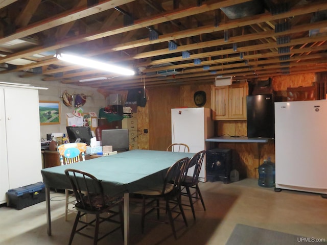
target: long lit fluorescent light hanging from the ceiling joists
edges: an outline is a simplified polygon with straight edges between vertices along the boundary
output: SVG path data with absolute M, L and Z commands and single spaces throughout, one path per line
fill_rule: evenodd
M 75 55 L 57 54 L 54 57 L 56 57 L 59 60 L 74 63 L 77 65 L 82 65 L 82 66 L 87 66 L 87 67 L 91 67 L 91 68 L 95 68 L 95 69 L 115 72 L 115 73 L 125 75 L 125 76 L 132 76 L 135 74 L 135 72 L 131 69 L 126 69 L 126 68 L 119 67 L 116 65 L 110 65 L 110 64 L 106 64 L 106 63 L 99 62 L 96 60 L 90 60 L 90 59 L 78 57 Z

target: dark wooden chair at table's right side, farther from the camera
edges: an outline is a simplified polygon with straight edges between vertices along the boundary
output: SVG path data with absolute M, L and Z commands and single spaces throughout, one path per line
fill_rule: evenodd
M 189 198 L 190 204 L 183 204 L 189 206 L 192 209 L 193 218 L 195 218 L 194 203 L 201 200 L 203 209 L 205 210 L 204 201 L 201 195 L 199 188 L 199 174 L 201 170 L 201 165 L 205 156 L 205 151 L 200 151 L 195 154 L 188 163 L 188 169 L 185 171 L 186 175 L 184 176 L 183 181 L 181 182 L 181 195 L 184 195 Z M 194 167 L 193 175 L 188 176 L 187 173 L 191 167 Z

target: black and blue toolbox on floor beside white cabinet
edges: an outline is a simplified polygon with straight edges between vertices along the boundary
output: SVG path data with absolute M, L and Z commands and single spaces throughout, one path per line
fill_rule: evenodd
M 45 185 L 43 182 L 10 189 L 7 194 L 7 206 L 17 210 L 45 201 Z

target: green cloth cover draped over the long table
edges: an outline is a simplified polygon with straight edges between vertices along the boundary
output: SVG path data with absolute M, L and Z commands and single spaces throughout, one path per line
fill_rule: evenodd
M 111 156 L 98 157 L 69 165 L 55 166 L 41 170 L 46 187 L 69 189 L 66 168 L 86 171 L 102 181 L 106 194 L 135 192 L 160 184 L 167 169 L 177 160 L 194 153 L 132 150 Z

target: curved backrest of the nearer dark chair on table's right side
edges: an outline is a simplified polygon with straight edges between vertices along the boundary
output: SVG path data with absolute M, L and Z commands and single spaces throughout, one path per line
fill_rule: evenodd
M 180 185 L 183 180 L 183 176 L 185 174 L 185 169 L 188 167 L 189 158 L 185 157 L 178 161 L 176 161 L 173 165 L 171 165 L 166 173 L 164 187 L 162 188 L 161 194 L 165 194 L 166 186 L 168 184 L 173 185 L 173 189 L 170 192 L 175 195 L 179 193 Z

